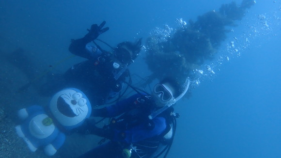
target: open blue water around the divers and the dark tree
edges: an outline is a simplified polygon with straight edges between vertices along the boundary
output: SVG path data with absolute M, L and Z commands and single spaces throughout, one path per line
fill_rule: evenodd
M 12 45 L 2 49 L 22 47 L 51 65 L 68 57 L 70 39 L 94 23 L 107 21 L 110 29 L 100 39 L 115 45 L 145 39 L 165 24 L 176 28 L 178 18 L 196 20 L 229 2 L 1 0 L 0 37 Z M 236 24 L 218 57 L 202 67 L 192 97 L 176 105 L 181 117 L 169 158 L 281 158 L 281 0 L 256 0 Z M 148 71 L 142 57 L 131 69 L 143 76 Z M 69 59 L 57 69 L 63 72 L 80 60 Z

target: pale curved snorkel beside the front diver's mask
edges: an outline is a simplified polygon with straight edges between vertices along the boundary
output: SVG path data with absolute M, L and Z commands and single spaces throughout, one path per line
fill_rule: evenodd
M 180 100 L 186 93 L 187 93 L 187 89 L 189 87 L 189 80 L 188 78 L 186 79 L 186 83 L 185 83 L 185 89 L 184 91 L 177 97 L 177 98 L 172 98 L 165 106 L 163 106 L 162 108 L 156 110 L 155 112 L 151 113 L 148 118 L 149 119 L 153 119 L 154 117 L 156 117 L 157 115 L 161 114 L 163 111 L 167 110 L 168 108 L 170 108 L 173 104 L 175 104 L 178 100 Z

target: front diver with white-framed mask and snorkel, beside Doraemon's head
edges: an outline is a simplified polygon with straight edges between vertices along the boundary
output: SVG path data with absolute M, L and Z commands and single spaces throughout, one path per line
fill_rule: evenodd
M 179 84 L 165 78 L 154 86 L 152 95 L 132 87 L 137 94 L 116 104 L 93 109 L 94 117 L 109 117 L 109 125 L 95 126 L 89 118 L 80 133 L 94 134 L 110 141 L 79 158 L 157 158 L 167 156 L 175 134 L 176 120 L 172 105 L 187 92 L 189 79 Z M 141 92 L 140 92 L 141 91 Z M 103 140 L 105 141 L 105 140 Z

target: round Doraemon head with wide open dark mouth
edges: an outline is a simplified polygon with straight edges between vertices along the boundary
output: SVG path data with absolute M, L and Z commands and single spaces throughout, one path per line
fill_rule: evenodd
M 91 104 L 80 90 L 68 88 L 54 95 L 50 110 L 63 126 L 70 127 L 90 116 Z

